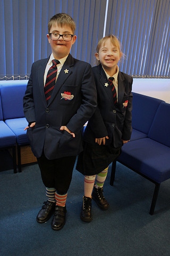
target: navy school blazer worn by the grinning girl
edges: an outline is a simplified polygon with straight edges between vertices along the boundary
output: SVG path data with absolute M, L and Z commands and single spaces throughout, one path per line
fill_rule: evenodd
M 130 140 L 132 133 L 132 82 L 131 76 L 119 71 L 118 73 L 118 102 L 113 102 L 111 87 L 101 64 L 93 67 L 98 107 L 90 118 L 84 132 L 84 140 L 95 143 L 95 138 L 108 135 L 106 145 L 115 148 L 122 146 L 123 140 Z M 107 86 L 108 85 L 108 86 Z

